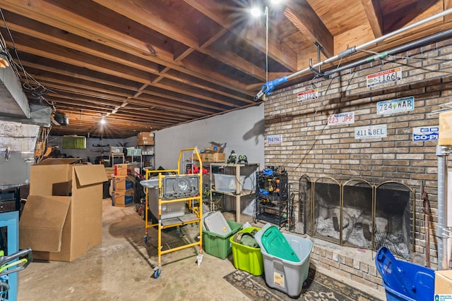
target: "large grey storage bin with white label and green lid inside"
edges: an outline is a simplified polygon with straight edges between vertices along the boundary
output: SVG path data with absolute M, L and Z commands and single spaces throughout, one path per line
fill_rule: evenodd
M 299 258 L 299 262 L 291 262 L 268 254 L 263 249 L 258 234 L 263 232 L 264 228 L 265 226 L 254 237 L 261 246 L 266 283 L 270 288 L 280 290 L 290 297 L 297 297 L 302 293 L 303 283 L 308 278 L 309 258 L 311 257 L 313 243 L 307 238 L 281 233 Z

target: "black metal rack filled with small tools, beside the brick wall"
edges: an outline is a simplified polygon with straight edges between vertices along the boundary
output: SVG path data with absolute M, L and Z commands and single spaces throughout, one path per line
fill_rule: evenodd
M 289 216 L 289 185 L 287 171 L 266 168 L 256 172 L 257 221 L 268 221 L 278 226 L 287 223 Z

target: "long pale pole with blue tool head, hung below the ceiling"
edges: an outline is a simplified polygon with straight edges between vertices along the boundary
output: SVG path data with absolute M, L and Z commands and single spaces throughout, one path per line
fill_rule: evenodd
M 313 66 L 309 66 L 308 68 L 304 68 L 304 69 L 299 70 L 299 71 L 297 71 L 295 73 L 292 73 L 290 75 L 283 76 L 282 78 L 277 78 L 275 80 L 270 80 L 270 81 L 268 81 L 268 82 L 266 82 L 265 84 L 262 85 L 262 89 L 261 89 L 261 91 L 259 91 L 256 94 L 256 96 L 254 97 L 254 101 L 257 102 L 258 99 L 260 99 L 263 96 L 263 94 L 270 95 L 271 92 L 275 89 L 276 86 L 278 86 L 278 85 L 280 85 L 280 84 L 282 84 L 284 82 L 287 82 L 287 80 L 290 80 L 292 78 L 296 78 L 297 76 L 302 75 L 304 73 L 307 73 L 308 71 L 311 71 L 314 68 L 319 68 L 319 67 L 323 66 L 326 63 L 332 63 L 333 61 L 337 61 L 338 59 L 342 59 L 345 56 L 350 56 L 351 54 L 354 54 L 356 51 L 365 49 L 366 47 L 369 47 L 372 44 L 376 44 L 376 43 L 381 42 L 381 41 L 383 41 L 385 39 L 388 39 L 388 37 L 393 37 L 393 36 L 398 35 L 398 34 L 400 34 L 402 32 L 405 32 L 407 30 L 415 28 L 415 27 L 417 27 L 419 25 L 422 25 L 424 23 L 428 23 L 431 20 L 434 20 L 436 18 L 444 17 L 444 16 L 446 16 L 446 15 L 448 15 L 450 13 L 452 13 L 452 8 L 449 8 L 446 11 L 442 11 L 441 13 L 436 13 L 435 15 L 430 16 L 429 18 L 425 18 L 425 19 L 420 20 L 420 21 L 418 21 L 416 23 L 413 23 L 411 25 L 408 25 L 408 26 L 405 26 L 403 28 L 400 28 L 399 30 L 394 30 L 393 32 L 389 32 L 386 35 L 383 35 L 381 37 L 377 37 L 376 39 L 373 39 L 373 40 L 371 40 L 371 41 L 369 41 L 367 43 L 364 43 L 362 45 L 359 45 L 357 47 L 347 48 L 347 49 L 345 49 L 345 51 L 340 52 L 340 54 L 337 54 L 335 56 L 332 56 L 329 59 L 326 59 L 324 61 L 316 63 Z

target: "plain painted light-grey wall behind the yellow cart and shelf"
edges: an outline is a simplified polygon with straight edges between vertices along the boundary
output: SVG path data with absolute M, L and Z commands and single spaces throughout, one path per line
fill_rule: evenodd
M 181 149 L 203 149 L 210 142 L 226 143 L 225 154 L 232 149 L 245 154 L 249 163 L 263 167 L 265 121 L 263 104 L 232 111 L 201 121 L 194 121 L 155 132 L 155 167 L 177 168 Z

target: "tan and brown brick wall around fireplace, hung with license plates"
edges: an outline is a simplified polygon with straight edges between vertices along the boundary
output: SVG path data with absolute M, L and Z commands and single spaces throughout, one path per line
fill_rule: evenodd
M 314 180 L 331 176 L 343 182 L 351 178 L 376 184 L 396 180 L 415 189 L 415 252 L 420 254 L 425 254 L 420 200 L 424 181 L 433 216 L 433 269 L 437 264 L 437 141 L 412 141 L 412 128 L 438 125 L 438 115 L 429 113 L 439 109 L 439 104 L 452 102 L 451 44 L 449 39 L 335 73 L 330 79 L 300 82 L 274 92 L 265 102 L 266 135 L 283 135 L 281 144 L 266 145 L 266 166 L 284 166 L 294 183 L 306 174 Z M 366 75 L 395 67 L 402 68 L 402 80 L 367 87 Z M 297 93 L 314 88 L 319 99 L 297 103 Z M 377 102 L 403 97 L 415 98 L 414 111 L 376 113 Z M 331 114 L 350 111 L 355 112 L 354 124 L 327 125 Z M 381 124 L 386 124 L 387 137 L 355 139 L 356 127 Z M 324 263 L 337 266 L 337 258 Z M 362 276 L 360 273 L 357 276 Z

